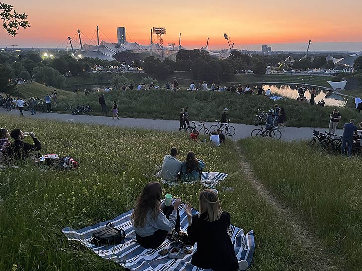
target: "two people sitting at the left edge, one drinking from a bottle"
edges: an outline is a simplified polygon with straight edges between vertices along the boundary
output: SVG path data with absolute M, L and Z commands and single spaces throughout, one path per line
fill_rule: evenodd
M 34 144 L 25 143 L 25 136 L 30 135 Z M 11 143 L 10 136 L 15 140 Z M 42 148 L 34 133 L 26 133 L 20 129 L 14 129 L 9 133 L 6 128 L 0 128 L 0 163 L 8 163 L 11 159 L 26 160 L 32 151 Z

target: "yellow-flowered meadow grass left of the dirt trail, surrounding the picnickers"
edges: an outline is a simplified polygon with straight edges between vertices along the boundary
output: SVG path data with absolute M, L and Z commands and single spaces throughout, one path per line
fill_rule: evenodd
M 44 122 L 2 115 L 0 123 L 8 129 L 19 127 L 23 131 L 34 131 L 42 143 L 43 154 L 72 155 L 80 162 L 79 170 L 70 172 L 40 171 L 31 162 L 20 169 L 0 171 L 0 270 L 11 270 L 13 265 L 17 265 L 17 270 L 123 270 L 69 243 L 61 229 L 90 226 L 131 209 L 145 183 L 155 181 L 154 167 L 161 164 L 170 147 L 179 148 L 180 160 L 193 150 L 205 161 L 206 171 L 233 174 L 240 169 L 238 151 L 231 141 L 215 148 L 208 143 L 193 142 L 184 133 Z M 343 181 L 349 182 L 345 178 Z M 232 186 L 234 192 L 222 192 L 222 186 Z M 179 195 L 198 208 L 200 189 L 199 184 L 165 186 L 164 193 Z M 223 209 L 230 212 L 232 223 L 245 232 L 255 231 L 257 246 L 250 270 L 318 270 L 315 265 L 320 261 L 318 252 L 304 247 L 285 219 L 240 172 L 228 177 L 219 190 Z M 338 219 L 328 222 L 338 223 Z

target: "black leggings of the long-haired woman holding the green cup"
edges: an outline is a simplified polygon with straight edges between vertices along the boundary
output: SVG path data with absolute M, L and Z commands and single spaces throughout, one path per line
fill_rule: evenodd
M 172 211 L 174 210 L 174 206 L 164 206 L 161 208 L 167 218 L 170 217 Z M 180 215 L 179 211 L 177 211 L 175 230 L 180 229 Z M 158 248 L 165 241 L 168 232 L 166 230 L 158 229 L 152 235 L 141 237 L 136 234 L 136 240 L 138 244 L 140 244 L 144 248 Z

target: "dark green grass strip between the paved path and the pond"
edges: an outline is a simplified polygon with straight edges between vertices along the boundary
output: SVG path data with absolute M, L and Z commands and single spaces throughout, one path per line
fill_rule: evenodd
M 95 108 L 94 114 L 100 114 L 101 108 L 98 104 L 98 93 L 84 96 L 79 93 L 68 99 L 70 104 L 89 103 Z M 59 95 L 61 98 L 61 95 Z M 188 92 L 181 90 L 174 95 L 170 90 L 151 91 L 114 91 L 105 93 L 106 103 L 109 110 L 113 100 L 119 105 L 119 116 L 131 118 L 156 118 L 156 119 L 179 119 L 181 107 L 189 106 L 190 120 L 207 120 L 214 122 L 220 119 L 223 109 L 229 109 L 232 122 L 251 124 L 252 118 L 261 108 L 265 111 L 274 108 L 275 102 L 265 96 L 258 95 L 236 95 L 230 92 L 197 91 Z M 279 106 L 284 107 L 287 114 L 287 125 L 303 127 L 328 127 L 329 114 L 334 107 L 310 106 L 295 100 L 285 99 L 278 101 Z M 351 106 L 351 104 L 349 104 Z M 57 106 L 61 110 L 63 106 Z M 97 113 L 98 112 L 98 113 Z M 350 118 L 359 120 L 359 114 L 352 108 L 340 108 L 342 122 L 348 122 Z

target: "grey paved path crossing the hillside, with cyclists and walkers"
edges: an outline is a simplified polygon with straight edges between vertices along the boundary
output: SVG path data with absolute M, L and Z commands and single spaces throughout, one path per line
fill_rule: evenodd
M 74 122 L 79 123 L 90 123 L 90 124 L 102 124 L 110 126 L 119 126 L 119 127 L 131 127 L 131 128 L 146 128 L 146 129 L 155 129 L 155 130 L 165 130 L 165 131 L 174 131 L 177 132 L 179 129 L 179 121 L 177 120 L 159 120 L 159 119 L 132 119 L 132 118 L 120 118 L 111 119 L 111 117 L 103 116 L 88 116 L 88 115 L 71 115 L 71 114 L 58 114 L 58 113 L 37 113 L 32 116 L 30 111 L 23 111 L 25 118 L 34 118 L 34 119 L 51 119 L 58 121 L 67 121 L 74 120 Z M 20 113 L 18 110 L 14 109 L 10 112 L 5 109 L 0 109 L 0 114 L 5 115 L 15 115 L 18 116 Z M 212 122 L 206 124 L 209 128 Z M 231 123 L 234 126 L 236 133 L 231 136 L 233 140 L 238 140 L 241 138 L 249 137 L 251 131 L 257 128 L 254 125 L 249 124 L 240 124 L 240 123 Z M 11 127 L 8 127 L 11 129 Z M 325 131 L 326 128 L 317 128 L 319 131 Z M 287 127 L 285 130 L 281 129 L 283 140 L 300 140 L 300 139 L 311 139 L 312 138 L 312 129 L 310 127 Z M 342 130 L 338 129 L 336 131 L 337 135 L 342 135 Z M 228 136 L 227 136 L 228 137 Z

